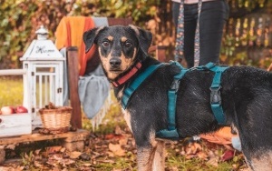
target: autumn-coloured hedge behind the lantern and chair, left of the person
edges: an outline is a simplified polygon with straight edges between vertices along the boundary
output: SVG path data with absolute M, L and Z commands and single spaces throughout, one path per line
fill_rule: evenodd
M 159 0 L 1 0 L 0 69 L 21 67 L 19 58 L 35 38 L 40 25 L 51 39 L 65 15 L 131 17 L 137 25 L 156 14 Z

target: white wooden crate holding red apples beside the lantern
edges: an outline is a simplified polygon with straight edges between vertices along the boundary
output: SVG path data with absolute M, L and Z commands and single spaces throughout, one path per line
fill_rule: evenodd
M 0 115 L 0 137 L 21 136 L 32 133 L 31 114 Z

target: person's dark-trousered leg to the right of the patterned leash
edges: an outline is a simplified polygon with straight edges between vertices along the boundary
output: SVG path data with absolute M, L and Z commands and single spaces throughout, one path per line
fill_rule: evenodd
M 203 2 L 200 19 L 200 61 L 219 63 L 223 28 L 228 19 L 228 4 L 225 0 Z

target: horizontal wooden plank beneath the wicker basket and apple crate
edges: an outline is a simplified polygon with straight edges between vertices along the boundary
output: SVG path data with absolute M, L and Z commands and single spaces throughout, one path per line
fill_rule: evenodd
M 42 135 L 39 133 L 34 133 L 32 135 L 0 138 L 0 146 L 13 145 L 13 144 L 16 145 L 19 143 L 44 141 L 44 140 L 50 140 L 50 139 L 62 139 L 62 138 L 69 138 L 69 137 L 78 137 L 78 139 L 83 139 L 89 135 L 90 135 L 90 132 L 83 129 L 79 129 L 76 132 L 67 132 L 67 133 L 55 134 L 55 135 Z

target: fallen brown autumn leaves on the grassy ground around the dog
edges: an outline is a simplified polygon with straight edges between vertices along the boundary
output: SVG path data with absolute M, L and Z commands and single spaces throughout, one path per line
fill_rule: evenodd
M 83 126 L 92 127 L 88 119 L 83 119 Z M 6 152 L 9 159 L 0 170 L 137 170 L 135 141 L 116 103 L 100 128 L 91 130 L 83 152 L 68 152 L 59 144 L 47 141 L 17 146 Z M 242 154 L 232 146 L 220 146 L 203 139 L 167 142 L 166 154 L 167 171 L 248 170 Z

